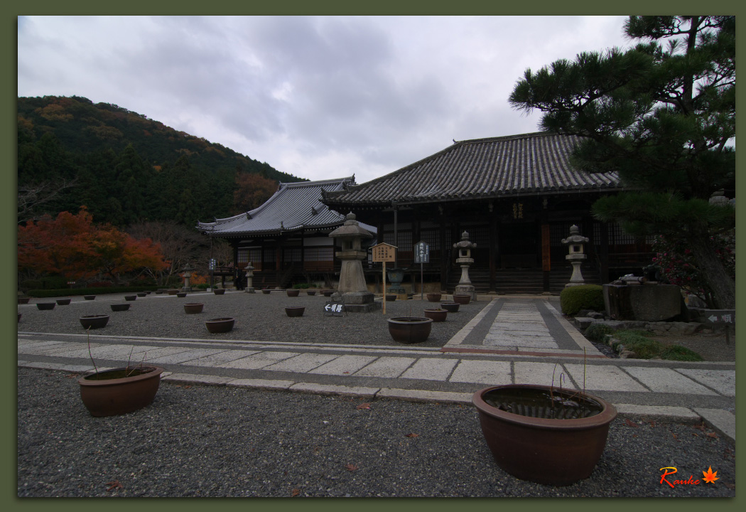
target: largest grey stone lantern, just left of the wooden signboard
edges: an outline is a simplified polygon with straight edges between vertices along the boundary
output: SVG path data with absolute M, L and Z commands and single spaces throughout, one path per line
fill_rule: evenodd
M 339 272 L 339 293 L 345 304 L 345 311 L 369 312 L 376 309 L 374 294 L 368 291 L 366 277 L 363 274 L 363 260 L 368 251 L 363 249 L 363 239 L 373 235 L 361 228 L 354 213 L 348 213 L 345 223 L 332 231 L 329 236 L 338 238 L 342 250 L 334 253 L 342 260 Z

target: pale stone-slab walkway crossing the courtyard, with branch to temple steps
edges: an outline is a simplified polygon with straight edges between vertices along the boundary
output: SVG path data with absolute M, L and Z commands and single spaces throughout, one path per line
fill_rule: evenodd
M 91 352 L 107 367 L 146 357 L 164 381 L 368 399 L 468 404 L 491 385 L 554 384 L 601 396 L 620 416 L 703 419 L 736 436 L 735 363 L 605 358 L 547 298 L 492 300 L 442 349 L 96 335 Z M 93 371 L 78 334 L 19 332 L 18 365 Z

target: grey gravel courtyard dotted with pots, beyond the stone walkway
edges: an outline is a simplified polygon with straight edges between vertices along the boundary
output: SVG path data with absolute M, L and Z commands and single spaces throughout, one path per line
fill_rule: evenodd
M 38 310 L 36 302 L 54 302 L 54 299 L 32 299 L 34 304 L 19 305 L 22 317 L 19 331 L 57 332 L 82 334 L 84 329 L 78 318 L 85 315 L 108 314 L 109 323 L 91 335 L 143 337 L 181 337 L 215 340 L 288 341 L 301 343 L 342 343 L 392 346 L 386 319 L 395 316 L 422 316 L 425 307 L 438 307 L 439 303 L 394 301 L 386 303 L 386 315 L 380 310 L 372 313 L 347 313 L 346 316 L 325 316 L 324 305 L 330 299 L 324 296 L 288 297 L 284 292 L 263 293 L 227 292 L 223 296 L 212 293 L 190 294 L 183 299 L 151 293 L 138 297 L 128 311 L 113 312 L 110 305 L 125 303 L 122 296 L 97 296 L 93 301 L 75 297 L 67 306 L 57 305 L 53 310 Z M 201 302 L 200 314 L 184 313 L 187 302 Z M 469 320 L 488 305 L 488 301 L 462 305 L 457 313 L 448 313 L 445 322 L 433 322 L 430 337 L 417 346 L 441 347 Z M 286 316 L 284 307 L 304 306 L 304 315 Z M 232 316 L 236 319 L 233 331 L 210 334 L 204 321 Z

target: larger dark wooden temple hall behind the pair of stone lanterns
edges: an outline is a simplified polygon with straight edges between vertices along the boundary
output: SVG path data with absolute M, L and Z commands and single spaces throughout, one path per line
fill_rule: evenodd
M 469 273 L 478 293 L 562 290 L 572 272 L 562 245 L 571 225 L 589 238 L 587 283 L 639 272 L 650 263 L 651 247 L 593 219 L 593 202 L 623 187 L 615 173 L 574 169 L 570 154 L 578 140 L 548 132 L 462 140 L 381 178 L 325 187 L 322 203 L 375 226 L 374 243 L 398 247 L 396 265 L 410 269 L 410 282 L 420 275 L 413 245 L 429 244 L 425 282 L 448 292 L 460 278 L 454 243 L 463 231 L 477 244 Z

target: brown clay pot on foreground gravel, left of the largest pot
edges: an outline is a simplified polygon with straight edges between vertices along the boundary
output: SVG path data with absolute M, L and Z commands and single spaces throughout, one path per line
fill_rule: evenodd
M 116 416 L 151 405 L 160 385 L 159 366 L 115 368 L 78 379 L 91 416 Z

